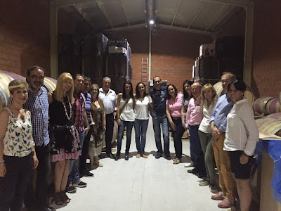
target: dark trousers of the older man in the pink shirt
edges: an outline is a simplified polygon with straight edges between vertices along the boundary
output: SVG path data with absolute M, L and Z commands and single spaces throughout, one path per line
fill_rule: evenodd
M 206 174 L 204 153 L 202 151 L 200 138 L 198 134 L 198 125 L 189 125 L 188 130 L 190 132 L 190 156 L 193 155 L 193 162 L 195 163 L 195 169 L 200 174 Z

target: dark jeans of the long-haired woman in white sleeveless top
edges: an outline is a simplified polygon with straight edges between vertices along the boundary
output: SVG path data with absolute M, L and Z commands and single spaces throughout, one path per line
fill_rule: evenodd
M 131 146 L 131 131 L 133 129 L 133 124 L 135 122 L 123 121 L 121 120 L 121 124 L 118 127 L 118 138 L 117 138 L 117 155 L 121 153 L 122 139 L 124 135 L 124 129 L 126 127 L 126 154 L 129 154 L 130 146 Z

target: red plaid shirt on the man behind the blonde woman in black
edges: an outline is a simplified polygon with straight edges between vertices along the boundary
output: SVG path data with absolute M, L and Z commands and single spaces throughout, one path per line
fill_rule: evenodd
M 86 98 L 83 93 L 77 94 L 74 93 L 74 103 L 72 107 L 72 120 L 75 123 L 75 126 L 78 132 L 84 130 L 84 113 L 86 111 L 85 104 Z

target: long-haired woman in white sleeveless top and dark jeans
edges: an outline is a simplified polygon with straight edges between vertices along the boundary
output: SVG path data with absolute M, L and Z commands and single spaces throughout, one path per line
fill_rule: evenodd
M 123 91 L 117 96 L 117 123 L 118 138 L 117 138 L 117 154 L 115 160 L 120 158 L 122 139 L 124 128 L 126 127 L 126 151 L 125 160 L 129 160 L 129 150 L 131 145 L 131 132 L 135 122 L 135 114 L 133 113 L 133 85 L 126 81 L 123 84 Z

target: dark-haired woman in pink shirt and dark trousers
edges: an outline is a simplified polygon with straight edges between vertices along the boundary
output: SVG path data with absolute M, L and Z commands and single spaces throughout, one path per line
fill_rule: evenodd
M 178 93 L 174 84 L 169 84 L 166 92 L 166 115 L 171 125 L 171 136 L 174 139 L 174 146 L 176 151 L 176 158 L 174 158 L 174 164 L 181 162 L 181 155 L 183 151 L 183 144 L 181 143 L 181 137 L 185 132 L 183 125 L 181 124 L 181 106 L 183 104 L 183 95 Z

